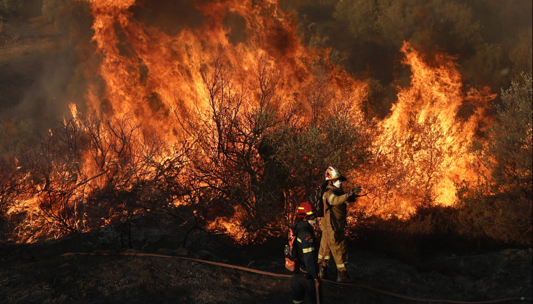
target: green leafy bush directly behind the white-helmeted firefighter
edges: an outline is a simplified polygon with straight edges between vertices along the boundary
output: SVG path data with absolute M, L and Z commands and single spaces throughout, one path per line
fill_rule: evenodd
M 295 201 L 305 199 L 324 179 L 328 166 L 346 174 L 368 162 L 369 138 L 344 112 L 321 117 L 317 124 L 283 126 L 269 135 Z

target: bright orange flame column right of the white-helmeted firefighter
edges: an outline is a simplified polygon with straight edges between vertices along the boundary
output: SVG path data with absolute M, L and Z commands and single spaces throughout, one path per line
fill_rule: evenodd
M 453 205 L 456 183 L 478 178 L 469 147 L 496 96 L 488 87 L 466 89 L 453 57 L 438 54 L 430 62 L 409 43 L 401 52 L 410 86 L 399 87 L 374 142 L 382 166 L 376 192 L 389 202 L 379 212 L 400 217 L 421 204 Z M 379 184 L 386 189 L 380 192 Z

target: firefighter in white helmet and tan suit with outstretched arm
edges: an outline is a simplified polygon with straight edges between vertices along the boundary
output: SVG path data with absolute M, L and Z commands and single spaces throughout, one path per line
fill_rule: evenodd
M 333 167 L 328 167 L 326 170 L 326 180 L 328 189 L 322 196 L 323 203 L 325 203 L 324 217 L 320 220 L 322 239 L 318 251 L 319 275 L 320 278 L 326 277 L 326 268 L 330 258 L 333 257 L 338 273 L 337 282 L 349 282 L 351 278 L 346 269 L 348 253 L 344 236 L 346 202 L 353 202 L 360 196 L 358 193 L 361 192 L 361 186 L 357 186 L 348 193 L 344 191 L 342 183 L 347 179 Z

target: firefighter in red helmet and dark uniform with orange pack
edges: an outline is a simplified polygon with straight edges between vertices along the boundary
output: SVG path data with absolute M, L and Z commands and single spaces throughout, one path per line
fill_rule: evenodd
M 322 302 L 322 286 L 318 276 L 317 240 L 313 225 L 317 223 L 317 209 L 309 202 L 298 206 L 296 218 L 296 248 L 301 260 L 300 267 L 294 269 L 290 287 L 293 290 L 293 303 L 303 303 L 308 295 L 311 303 Z

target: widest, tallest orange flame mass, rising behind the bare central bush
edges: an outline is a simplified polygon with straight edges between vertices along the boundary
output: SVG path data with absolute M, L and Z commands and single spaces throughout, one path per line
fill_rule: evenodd
M 215 73 L 220 63 L 222 72 L 231 72 L 232 81 L 252 93 L 259 70 L 268 67 L 281 80 L 277 96 L 281 107 L 296 103 L 311 109 L 302 88 L 326 77 L 330 92 L 351 100 L 352 112 L 360 113 L 358 105 L 366 85 L 329 65 L 325 50 L 305 47 L 296 35 L 294 18 L 281 11 L 277 1 L 205 2 L 196 6 L 204 16 L 203 25 L 177 35 L 136 20 L 128 10 L 132 1 L 90 3 L 93 40 L 101 56 L 99 74 L 104 82 L 102 94 L 95 88 L 87 95 L 90 110 L 107 109 L 115 117 L 133 115 L 143 126 L 177 140 L 181 130 L 171 113 L 207 106 L 205 78 Z M 235 35 L 232 28 L 224 26 L 230 14 L 238 16 L 244 26 L 243 37 L 236 42 L 231 39 Z M 324 73 L 317 68 L 319 60 L 326 62 L 326 76 L 319 76 Z M 207 72 L 203 70 L 206 67 Z M 251 107 L 259 106 L 258 96 L 249 94 L 245 101 Z M 237 214 L 231 219 L 217 218 L 211 227 L 238 238 Z

